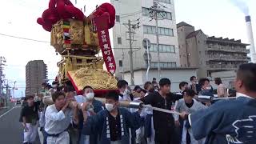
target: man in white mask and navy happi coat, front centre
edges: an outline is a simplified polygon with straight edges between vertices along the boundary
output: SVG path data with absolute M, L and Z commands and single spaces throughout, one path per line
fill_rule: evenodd
M 106 110 L 91 117 L 87 116 L 86 103 L 82 106 L 84 127 L 82 134 L 98 134 L 99 144 L 130 144 L 129 128 L 137 130 L 141 126 L 140 111 L 133 114 L 118 107 L 118 93 L 106 94 Z

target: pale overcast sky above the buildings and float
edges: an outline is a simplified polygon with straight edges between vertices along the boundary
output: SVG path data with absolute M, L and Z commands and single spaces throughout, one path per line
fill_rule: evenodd
M 96 5 L 109 2 L 109 0 L 79 1 L 86 3 L 86 15 L 89 15 Z M 18 90 L 15 90 L 15 97 L 24 96 L 25 66 L 30 60 L 44 60 L 48 66 L 49 79 L 54 79 L 58 73 L 56 63 L 61 57 L 57 56 L 54 48 L 50 46 L 50 33 L 43 30 L 36 22 L 43 10 L 46 10 L 48 2 L 48 0 L 5 0 L 0 6 L 0 56 L 6 58 L 7 66 L 4 67 L 4 74 L 10 86 L 17 81 Z M 249 6 L 254 38 L 256 38 L 256 1 L 243 2 Z M 176 22 L 187 22 L 209 36 L 242 39 L 242 42 L 248 42 L 244 14 L 230 0 L 174 0 L 174 5 Z M 43 42 L 10 38 L 2 34 Z

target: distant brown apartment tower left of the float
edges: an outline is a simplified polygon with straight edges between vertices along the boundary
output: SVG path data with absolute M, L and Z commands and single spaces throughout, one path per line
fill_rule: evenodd
M 42 90 L 42 82 L 47 79 L 47 66 L 42 60 L 30 61 L 26 64 L 26 96 L 38 94 Z

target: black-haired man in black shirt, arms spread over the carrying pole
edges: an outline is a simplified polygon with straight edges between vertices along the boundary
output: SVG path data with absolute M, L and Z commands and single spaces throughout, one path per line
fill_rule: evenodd
M 159 82 L 160 90 L 149 94 L 142 98 L 142 102 L 146 105 L 171 110 L 172 103 L 182 98 L 170 93 L 170 80 L 162 78 Z M 155 130 L 155 143 L 156 144 L 176 144 L 178 137 L 175 132 L 174 118 L 172 114 L 167 114 L 161 111 L 153 110 L 153 121 Z

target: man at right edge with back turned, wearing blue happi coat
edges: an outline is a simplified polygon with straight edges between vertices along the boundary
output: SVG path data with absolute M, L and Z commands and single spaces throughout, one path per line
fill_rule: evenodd
M 195 139 L 206 137 L 206 144 L 256 143 L 256 64 L 239 66 L 234 83 L 235 100 L 219 101 L 188 115 Z

